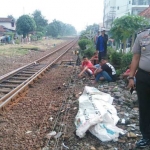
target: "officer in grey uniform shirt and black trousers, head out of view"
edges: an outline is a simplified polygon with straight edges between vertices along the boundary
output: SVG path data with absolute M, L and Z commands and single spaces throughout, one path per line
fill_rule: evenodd
M 136 147 L 150 145 L 150 29 L 137 35 L 133 45 L 133 58 L 129 76 L 129 87 L 135 88 L 134 75 L 136 70 L 136 90 L 139 101 L 139 126 L 142 139 Z

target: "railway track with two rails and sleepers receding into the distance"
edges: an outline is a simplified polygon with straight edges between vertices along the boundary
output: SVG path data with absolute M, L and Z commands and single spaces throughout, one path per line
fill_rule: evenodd
M 76 42 L 77 39 L 74 39 L 46 56 L 4 75 L 0 79 L 0 110 L 5 110 L 10 102 L 19 98 L 29 85 L 41 78 Z

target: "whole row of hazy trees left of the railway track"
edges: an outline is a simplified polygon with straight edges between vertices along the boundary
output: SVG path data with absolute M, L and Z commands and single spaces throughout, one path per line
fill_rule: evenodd
M 12 15 L 8 17 L 13 18 Z M 54 19 L 51 23 L 42 15 L 40 10 L 35 10 L 32 15 L 22 15 L 16 22 L 16 31 L 19 35 L 26 38 L 29 34 L 31 40 L 41 40 L 44 36 L 58 38 L 62 36 L 74 36 L 76 29 L 67 23 Z M 17 42 L 19 43 L 19 42 Z

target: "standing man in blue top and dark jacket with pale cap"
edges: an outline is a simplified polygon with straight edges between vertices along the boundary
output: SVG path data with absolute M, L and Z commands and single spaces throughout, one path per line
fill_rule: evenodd
M 99 61 L 101 60 L 101 58 L 107 56 L 107 41 L 108 35 L 105 34 L 105 29 L 103 28 L 101 30 L 101 35 L 98 37 L 96 43 L 96 50 L 99 52 L 98 54 Z

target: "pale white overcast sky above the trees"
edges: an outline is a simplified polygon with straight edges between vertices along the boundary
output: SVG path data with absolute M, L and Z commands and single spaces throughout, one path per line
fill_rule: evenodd
M 3 0 L 1 4 L 0 17 L 18 18 L 37 9 L 49 23 L 56 19 L 71 24 L 78 32 L 103 22 L 103 0 Z

